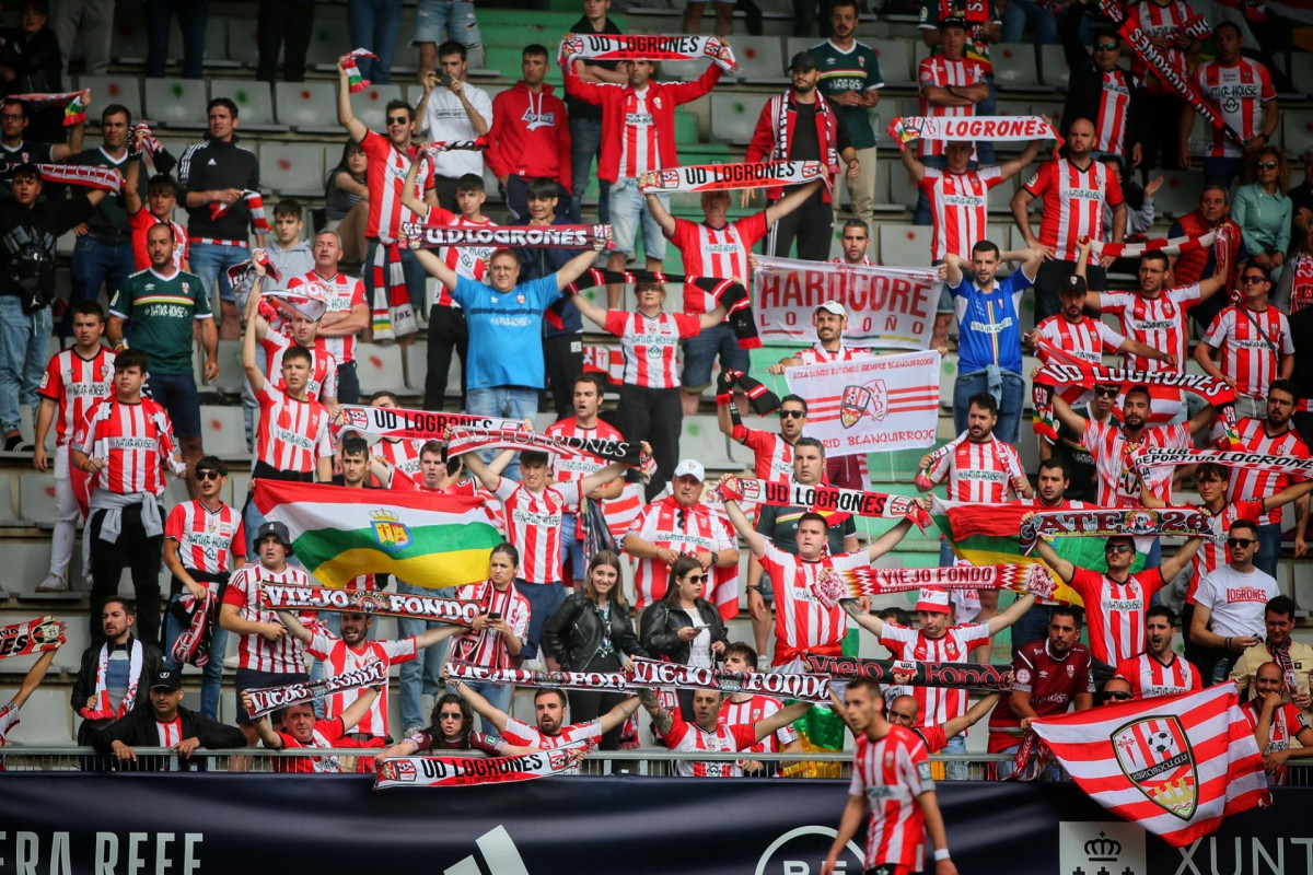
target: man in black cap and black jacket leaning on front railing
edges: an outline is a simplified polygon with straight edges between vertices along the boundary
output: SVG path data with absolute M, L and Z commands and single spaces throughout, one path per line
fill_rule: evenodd
M 123 771 L 169 770 L 171 757 L 139 758 L 134 748 L 168 748 L 177 754 L 179 770 L 190 770 L 197 748 L 246 746 L 240 729 L 184 708 L 183 695 L 181 672 L 163 669 L 151 680 L 150 706 L 92 732 L 88 743 L 101 753 L 114 754 Z

